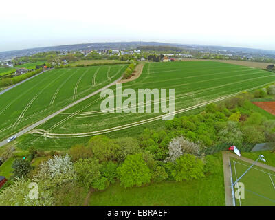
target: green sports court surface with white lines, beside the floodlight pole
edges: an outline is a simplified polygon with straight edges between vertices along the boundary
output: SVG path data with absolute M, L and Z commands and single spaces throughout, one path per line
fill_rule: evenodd
M 233 181 L 248 169 L 251 164 L 231 159 Z M 245 187 L 245 198 L 235 198 L 236 206 L 275 206 L 275 172 L 259 166 L 253 166 L 241 183 Z

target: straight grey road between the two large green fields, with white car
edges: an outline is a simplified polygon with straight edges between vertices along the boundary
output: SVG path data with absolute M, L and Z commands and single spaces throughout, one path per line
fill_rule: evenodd
M 51 118 L 54 118 L 54 116 L 58 115 L 59 113 L 66 111 L 67 109 L 73 107 L 74 105 L 83 102 L 84 100 L 86 100 L 87 98 L 90 98 L 91 96 L 94 96 L 96 94 L 98 94 L 100 91 L 107 89 L 109 87 L 111 87 L 112 85 L 115 85 L 116 83 L 118 83 L 118 81 L 120 81 L 122 79 L 122 77 L 118 78 L 117 80 L 113 81 L 113 83 L 110 83 L 109 85 L 102 87 L 101 89 L 98 89 L 97 91 L 94 91 L 93 93 L 89 94 L 88 96 L 85 96 L 83 98 L 80 98 L 79 100 L 77 100 L 76 102 L 73 102 L 72 104 L 67 105 L 66 107 L 64 107 L 63 109 L 60 109 L 58 111 L 56 111 L 55 113 L 52 113 L 52 115 L 47 116 L 46 118 L 43 118 L 42 120 L 40 120 L 39 122 L 36 122 L 28 127 L 26 127 L 25 129 L 19 131 L 18 133 L 15 133 L 14 135 L 17 135 L 17 137 L 28 133 L 29 131 L 31 131 L 32 129 L 36 128 L 36 126 L 39 126 L 45 122 L 47 122 L 47 120 L 50 120 Z M 12 135 L 11 135 L 12 136 Z M 4 146 L 5 144 L 8 144 L 7 140 L 3 140 L 2 142 L 0 142 L 0 147 Z

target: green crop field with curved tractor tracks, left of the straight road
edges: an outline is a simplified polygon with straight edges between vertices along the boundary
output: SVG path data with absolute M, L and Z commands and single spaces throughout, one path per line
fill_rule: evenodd
M 126 65 L 53 69 L 0 96 L 0 140 L 119 78 Z

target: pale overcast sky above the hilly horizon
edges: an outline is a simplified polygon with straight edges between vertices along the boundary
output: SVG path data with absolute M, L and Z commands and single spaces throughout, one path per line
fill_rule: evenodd
M 3 0 L 0 51 L 107 41 L 275 50 L 275 1 Z

